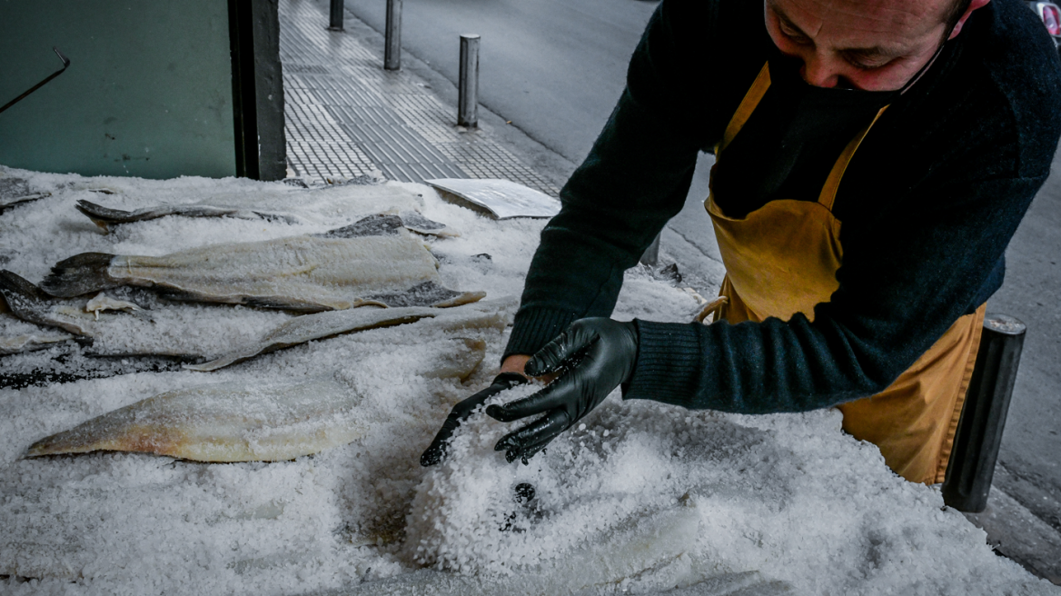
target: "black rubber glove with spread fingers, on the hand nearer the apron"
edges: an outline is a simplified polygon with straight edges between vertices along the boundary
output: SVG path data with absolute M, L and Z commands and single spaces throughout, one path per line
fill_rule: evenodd
M 523 368 L 530 376 L 558 370 L 560 376 L 533 396 L 486 408 L 487 415 L 502 422 L 545 414 L 502 437 L 494 451 L 505 451 L 509 462 L 521 459 L 526 463 L 625 383 L 637 363 L 638 328 L 632 322 L 594 317 L 571 323 Z

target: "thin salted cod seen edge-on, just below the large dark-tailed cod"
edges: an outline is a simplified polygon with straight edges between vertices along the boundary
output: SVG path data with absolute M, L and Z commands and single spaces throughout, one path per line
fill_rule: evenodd
M 508 311 L 514 310 L 515 306 L 517 306 L 515 300 L 501 299 L 475 302 L 453 309 L 427 306 L 373 309 L 365 306 L 302 315 L 281 323 L 254 344 L 241 346 L 208 363 L 185 365 L 185 368 L 204 372 L 218 370 L 250 360 L 259 354 L 298 346 L 314 339 L 325 339 L 378 327 L 402 325 L 422 318 L 437 317 L 443 327 L 452 330 L 493 327 L 502 331 L 508 322 Z

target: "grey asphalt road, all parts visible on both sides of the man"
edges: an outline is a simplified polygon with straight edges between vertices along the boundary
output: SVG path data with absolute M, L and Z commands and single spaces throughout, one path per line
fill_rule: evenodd
M 384 6 L 347 2 L 380 32 Z M 402 46 L 455 83 L 458 35 L 480 34 L 480 102 L 578 162 L 623 89 L 655 7 L 644 0 L 404 0 Z M 710 163 L 701 159 L 688 208 L 671 225 L 709 259 L 714 239 L 699 204 Z M 1054 166 L 1057 173 L 1061 161 Z M 1040 192 L 1007 256 L 1006 284 L 989 308 L 1029 331 L 995 484 L 1061 531 L 1061 174 Z

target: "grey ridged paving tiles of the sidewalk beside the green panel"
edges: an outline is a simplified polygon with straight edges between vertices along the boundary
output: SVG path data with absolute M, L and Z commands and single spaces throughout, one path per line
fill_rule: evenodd
M 485 130 L 456 126 L 416 75 L 383 70 L 382 56 L 327 30 L 327 3 L 280 0 L 280 60 L 288 162 L 303 177 L 507 178 L 556 196 L 559 189 Z

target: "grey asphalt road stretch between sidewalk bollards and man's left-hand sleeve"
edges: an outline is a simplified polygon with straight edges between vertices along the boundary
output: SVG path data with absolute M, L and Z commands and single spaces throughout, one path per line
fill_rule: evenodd
M 384 0 L 347 0 L 382 32 Z M 656 8 L 643 0 L 403 0 L 402 48 L 456 82 L 459 36 L 480 41 L 480 103 L 580 161 L 623 91 Z

